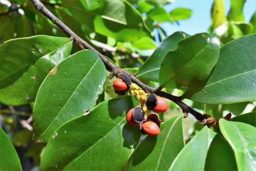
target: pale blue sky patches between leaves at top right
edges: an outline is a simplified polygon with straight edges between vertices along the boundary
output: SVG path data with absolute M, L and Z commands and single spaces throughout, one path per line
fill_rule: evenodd
M 176 0 L 174 4 L 167 4 L 164 9 L 167 12 L 175 8 L 183 7 L 193 10 L 189 19 L 181 20 L 180 26 L 170 23 L 163 23 L 161 27 L 170 35 L 176 31 L 184 31 L 190 35 L 199 32 L 207 32 L 211 25 L 210 10 L 214 0 Z M 230 9 L 230 0 L 224 0 L 226 15 Z M 254 11 L 256 10 L 256 1 L 247 0 L 244 5 L 245 22 L 248 23 Z

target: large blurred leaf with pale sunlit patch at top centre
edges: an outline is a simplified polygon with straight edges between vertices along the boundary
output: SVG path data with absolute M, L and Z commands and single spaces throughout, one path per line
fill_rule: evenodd
M 119 0 L 98 1 L 94 11 L 82 8 L 80 1 L 62 1 L 61 10 L 90 29 L 118 41 L 135 41 L 148 34 L 141 14 L 128 2 Z M 82 13 L 82 15 L 81 15 Z

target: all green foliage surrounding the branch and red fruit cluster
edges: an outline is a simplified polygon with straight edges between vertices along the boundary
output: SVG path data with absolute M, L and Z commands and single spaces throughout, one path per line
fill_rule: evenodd
M 226 16 L 223 1 L 215 0 L 209 33 L 191 36 L 162 28 L 193 14 L 166 12 L 172 0 L 42 3 L 148 86 L 182 95 L 216 119 L 231 112 L 232 119 L 211 130 L 193 116 L 183 119 L 167 100 L 161 134 L 140 137 L 124 119 L 137 101 L 114 93 L 114 79 L 96 53 L 79 51 L 30 1 L 0 1 L 0 170 L 256 169 L 256 13 L 245 22 L 245 1 L 230 0 Z M 11 160 L 2 157 L 7 153 Z

